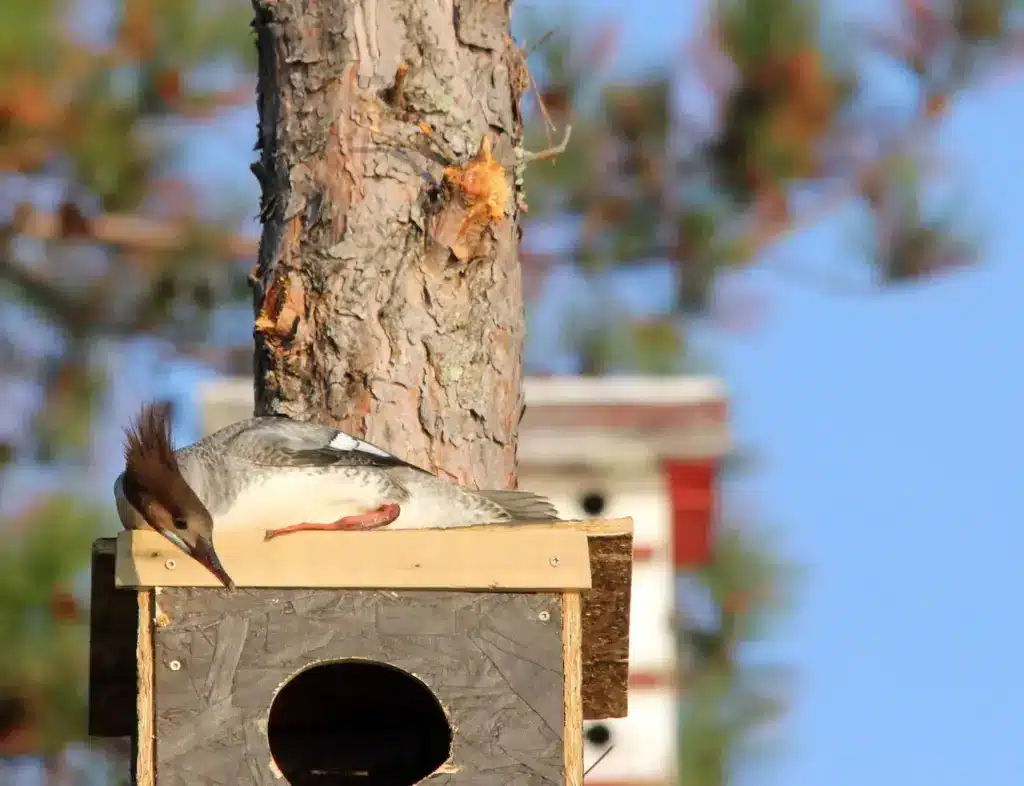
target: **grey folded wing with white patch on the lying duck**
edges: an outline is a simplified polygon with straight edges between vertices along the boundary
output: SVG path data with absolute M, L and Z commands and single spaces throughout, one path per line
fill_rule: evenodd
M 254 418 L 240 424 L 221 448 L 234 458 L 263 467 L 403 467 L 426 473 L 344 431 L 288 418 Z

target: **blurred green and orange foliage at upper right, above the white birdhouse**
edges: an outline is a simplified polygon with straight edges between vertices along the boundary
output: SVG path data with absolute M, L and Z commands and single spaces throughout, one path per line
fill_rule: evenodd
M 936 185 L 925 142 L 954 91 L 1016 56 L 1014 0 L 907 2 L 902 34 L 859 38 L 814 0 L 715 0 L 710 9 L 680 72 L 612 85 L 601 66 L 613 34 L 571 15 L 526 19 L 527 41 L 543 42 L 529 59 L 538 83 L 531 100 L 551 104 L 530 115 L 527 147 L 550 146 L 565 124 L 573 129 L 563 155 L 525 174 L 529 218 L 580 219 L 579 242 L 561 262 L 590 274 L 675 265 L 679 286 L 666 321 L 678 322 L 713 313 L 722 273 L 758 264 L 782 234 L 851 203 L 871 219 L 863 247 L 880 286 L 924 281 L 975 261 L 974 238 L 948 219 L 907 209 L 901 189 L 921 202 Z M 879 117 L 878 129 L 865 123 L 873 85 L 858 66 L 868 50 L 918 82 L 921 100 L 902 126 L 894 127 L 892 113 Z M 669 100 L 679 74 L 703 81 L 717 117 L 710 130 L 697 129 L 685 102 Z M 868 137 L 882 142 L 877 152 L 863 152 Z M 801 278 L 815 280 L 813 273 Z M 624 330 L 624 309 L 605 313 L 609 331 Z M 593 358 L 598 346 L 618 351 L 615 342 L 595 342 L 596 330 L 577 331 L 585 365 L 621 367 L 617 356 Z M 650 351 L 638 354 L 645 367 L 652 353 L 686 351 L 685 342 L 662 336 L 635 332 L 650 341 Z

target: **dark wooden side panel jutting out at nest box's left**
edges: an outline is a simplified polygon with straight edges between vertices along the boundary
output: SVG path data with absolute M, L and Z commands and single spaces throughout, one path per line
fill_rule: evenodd
M 94 737 L 135 734 L 137 593 L 114 586 L 117 539 L 92 544 L 89 603 L 89 715 Z

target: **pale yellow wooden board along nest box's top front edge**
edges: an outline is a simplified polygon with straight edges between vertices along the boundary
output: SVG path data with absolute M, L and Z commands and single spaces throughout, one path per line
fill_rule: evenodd
M 240 530 L 215 536 L 239 586 L 393 590 L 586 590 L 587 537 L 571 528 L 297 532 L 264 540 Z M 159 532 L 118 535 L 119 586 L 219 586 Z

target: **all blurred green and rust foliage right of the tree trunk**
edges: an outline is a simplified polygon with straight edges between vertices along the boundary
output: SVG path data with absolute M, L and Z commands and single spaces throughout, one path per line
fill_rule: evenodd
M 953 220 L 958 211 L 925 207 L 938 184 L 926 142 L 956 90 L 1015 56 L 1014 5 L 908 0 L 899 31 L 853 37 L 814 0 L 714 0 L 681 67 L 684 82 L 697 76 L 711 96 L 708 130 L 669 100 L 676 74 L 606 85 L 593 53 L 607 53 L 607 34 L 574 17 L 549 21 L 554 33 L 529 63 L 537 100 L 552 106 L 534 113 L 527 147 L 550 147 L 566 124 L 573 135 L 554 163 L 527 168 L 525 188 L 530 219 L 578 219 L 578 239 L 556 261 L 601 293 L 581 296 L 567 315 L 565 344 L 581 370 L 678 373 L 691 352 L 688 329 L 715 313 L 723 274 L 753 267 L 777 238 L 839 209 L 861 211 L 859 246 L 879 287 L 971 264 L 978 244 Z M 542 20 L 529 27 L 527 39 L 541 40 Z M 918 83 L 902 126 L 889 112 L 870 122 L 872 83 L 857 68 L 868 48 Z M 863 152 L 866 139 L 873 152 Z M 667 313 L 638 317 L 607 276 L 651 261 L 674 267 L 676 291 Z M 834 290 L 831 276 L 801 279 Z M 793 576 L 746 529 L 721 532 L 693 575 L 716 619 L 680 623 L 682 786 L 725 784 L 755 733 L 782 711 L 785 669 L 749 656 L 784 610 Z

